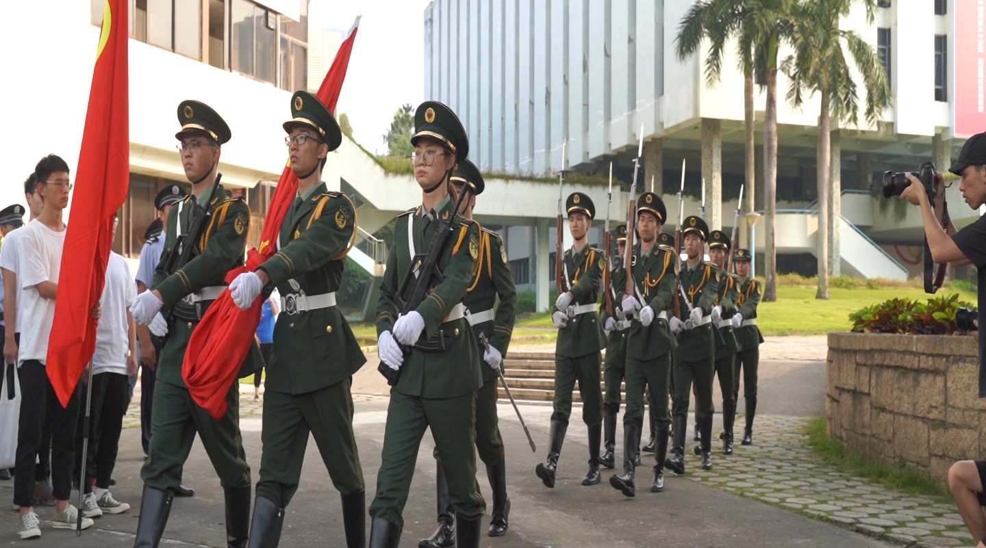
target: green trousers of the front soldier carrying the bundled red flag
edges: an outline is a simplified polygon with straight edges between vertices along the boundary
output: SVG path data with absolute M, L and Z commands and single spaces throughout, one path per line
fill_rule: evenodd
M 350 379 L 304 394 L 267 390 L 263 395 L 263 453 L 256 496 L 286 508 L 298 491 L 309 433 L 342 495 L 364 490 L 363 468 L 353 436 Z

